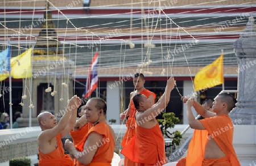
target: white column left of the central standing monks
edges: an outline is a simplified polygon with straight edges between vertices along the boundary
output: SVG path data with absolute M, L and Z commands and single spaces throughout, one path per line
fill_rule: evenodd
M 115 87 L 114 87 L 114 86 Z M 107 103 L 107 113 L 106 120 L 116 120 L 115 124 L 121 124 L 120 113 L 121 113 L 121 97 L 119 84 L 114 81 L 107 81 L 106 86 L 106 103 Z

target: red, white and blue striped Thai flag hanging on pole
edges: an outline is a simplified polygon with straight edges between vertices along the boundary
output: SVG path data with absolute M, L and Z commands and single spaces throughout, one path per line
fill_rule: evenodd
M 90 63 L 90 69 L 88 78 L 86 79 L 85 91 L 82 96 L 88 98 L 90 94 L 98 87 L 98 74 L 97 74 L 98 52 L 93 57 L 92 63 Z

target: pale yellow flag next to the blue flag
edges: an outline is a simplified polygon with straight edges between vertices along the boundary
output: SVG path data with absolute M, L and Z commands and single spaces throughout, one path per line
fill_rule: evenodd
M 11 58 L 11 76 L 15 79 L 31 78 L 31 54 L 32 48 L 19 56 Z

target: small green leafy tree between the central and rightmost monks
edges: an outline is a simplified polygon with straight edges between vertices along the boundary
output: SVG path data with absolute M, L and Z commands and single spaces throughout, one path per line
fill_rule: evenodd
M 170 133 L 168 131 L 168 128 L 174 128 L 175 124 L 177 124 L 177 122 L 179 121 L 179 118 L 175 117 L 175 114 L 173 112 L 163 113 L 163 119 L 158 120 L 160 129 L 163 135 L 165 135 L 165 138 L 172 138 L 172 146 L 174 144 L 178 146 L 182 137 L 180 131 L 176 130 L 173 133 Z

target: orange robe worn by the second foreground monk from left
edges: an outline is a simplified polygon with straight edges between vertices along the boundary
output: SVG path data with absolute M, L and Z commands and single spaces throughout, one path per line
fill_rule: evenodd
M 92 161 L 90 164 L 86 166 L 111 166 L 112 158 L 114 156 L 114 147 L 115 147 L 115 141 L 112 137 L 111 131 L 109 130 L 108 125 L 104 123 L 98 123 L 95 126 L 92 126 L 88 133 L 84 136 L 82 141 L 77 144 L 76 149 L 80 152 L 89 152 L 90 148 L 86 147 L 84 149 L 84 144 L 86 139 L 88 138 L 88 135 L 92 132 L 96 132 L 98 134 L 103 135 L 103 140 L 101 142 L 101 147 L 98 148 L 98 151 L 94 155 Z M 79 166 L 82 166 L 84 164 L 78 162 Z

